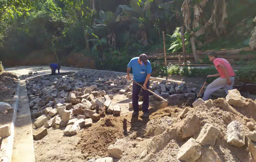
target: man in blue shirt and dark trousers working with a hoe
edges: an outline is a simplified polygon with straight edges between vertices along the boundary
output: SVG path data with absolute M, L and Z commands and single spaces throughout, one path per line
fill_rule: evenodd
M 141 54 L 140 57 L 135 57 L 131 59 L 131 61 L 127 65 L 127 80 L 130 81 L 130 70 L 133 69 L 133 79 L 134 81 L 143 85 L 143 104 L 142 110 L 144 113 L 144 117 L 149 117 L 148 107 L 149 107 L 149 93 L 146 89 L 149 88 L 149 78 L 152 73 L 152 67 L 150 62 L 148 61 L 148 56 L 145 54 Z M 133 116 L 139 114 L 139 94 L 141 91 L 141 87 L 136 83 L 133 83 Z

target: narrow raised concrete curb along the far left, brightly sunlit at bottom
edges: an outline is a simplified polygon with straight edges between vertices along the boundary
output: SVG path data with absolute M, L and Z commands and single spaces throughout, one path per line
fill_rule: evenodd
M 18 106 L 19 106 L 19 93 L 20 93 L 20 81 L 17 84 L 16 92 L 13 97 L 13 100 L 15 101 L 12 104 L 12 107 L 14 109 L 13 112 L 13 119 L 11 123 L 11 135 L 7 138 L 4 138 L 1 144 L 1 150 L 3 150 L 3 162 L 11 162 L 12 161 L 12 153 L 13 153 L 13 141 L 14 141 L 14 125 L 17 117 L 18 112 Z

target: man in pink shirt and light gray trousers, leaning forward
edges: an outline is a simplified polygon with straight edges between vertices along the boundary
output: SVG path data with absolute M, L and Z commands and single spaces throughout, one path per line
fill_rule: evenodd
M 211 93 L 216 90 L 223 88 L 225 92 L 228 94 L 229 90 L 233 89 L 234 81 L 235 81 L 235 73 L 232 69 L 230 63 L 224 58 L 217 58 L 215 52 L 210 52 L 208 54 L 209 60 L 214 63 L 218 74 L 216 75 L 208 75 L 207 77 L 217 77 L 218 79 L 209 84 L 204 92 L 202 100 L 209 100 Z

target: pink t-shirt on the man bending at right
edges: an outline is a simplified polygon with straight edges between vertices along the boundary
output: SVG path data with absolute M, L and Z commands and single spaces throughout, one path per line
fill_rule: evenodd
M 228 70 L 229 76 L 235 76 L 234 70 L 232 69 L 230 63 L 228 62 L 228 60 L 224 59 L 224 58 L 216 58 L 213 61 L 218 73 L 220 74 L 221 78 L 226 78 L 224 71 L 218 67 L 220 64 L 224 65 L 226 67 L 226 69 Z

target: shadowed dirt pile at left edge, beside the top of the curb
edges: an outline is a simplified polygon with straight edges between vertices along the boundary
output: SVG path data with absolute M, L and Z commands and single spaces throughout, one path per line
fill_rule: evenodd
M 18 77 L 12 73 L 0 74 L 0 102 L 10 102 L 15 94 Z

